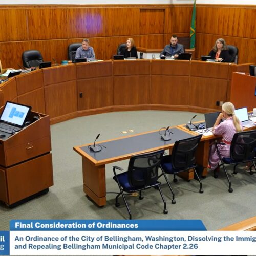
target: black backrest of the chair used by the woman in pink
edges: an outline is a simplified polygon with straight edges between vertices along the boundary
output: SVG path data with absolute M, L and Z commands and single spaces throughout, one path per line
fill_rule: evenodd
M 256 130 L 234 134 L 230 145 L 230 157 L 238 161 L 250 160 L 255 156 Z

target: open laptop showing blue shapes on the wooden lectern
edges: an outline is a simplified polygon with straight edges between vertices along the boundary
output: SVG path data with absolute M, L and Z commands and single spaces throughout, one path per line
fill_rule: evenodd
M 0 117 L 0 132 L 14 134 L 23 129 L 31 106 L 7 101 Z

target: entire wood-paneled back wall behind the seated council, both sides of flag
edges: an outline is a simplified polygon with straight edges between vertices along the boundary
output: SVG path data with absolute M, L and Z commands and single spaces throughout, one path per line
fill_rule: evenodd
M 0 6 L 0 59 L 22 65 L 22 52 L 41 51 L 45 61 L 67 59 L 72 42 L 90 38 L 96 58 L 110 59 L 126 38 L 163 48 L 173 33 L 189 36 L 192 5 Z M 196 57 L 219 37 L 239 48 L 239 63 L 256 62 L 256 6 L 197 5 Z

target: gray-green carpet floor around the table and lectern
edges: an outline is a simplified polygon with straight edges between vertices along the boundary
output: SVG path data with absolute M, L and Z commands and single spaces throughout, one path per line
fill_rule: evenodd
M 115 207 L 115 194 L 107 194 L 104 207 L 97 207 L 83 193 L 82 161 L 73 146 L 93 142 L 98 133 L 100 140 L 159 129 L 168 125 L 186 123 L 195 113 L 178 111 L 115 112 L 75 118 L 51 126 L 54 186 L 48 194 L 33 199 L 16 208 L 0 205 L 0 230 L 9 230 L 12 219 L 127 219 L 127 211 L 120 200 Z M 195 121 L 203 120 L 197 114 Z M 133 133 L 129 130 L 134 130 Z M 127 134 L 122 134 L 127 131 Z M 117 192 L 113 180 L 113 165 L 124 169 L 128 160 L 106 165 L 106 190 Z M 168 214 L 163 214 L 163 203 L 157 190 L 145 191 L 144 199 L 127 196 L 134 219 L 200 219 L 208 230 L 216 230 L 256 215 L 256 174 L 250 175 L 239 167 L 232 174 L 228 167 L 233 193 L 228 193 L 224 173 L 215 179 L 209 172 L 202 180 L 204 193 L 199 193 L 199 183 L 178 178 L 172 183 L 176 204 L 163 177 L 162 190 L 167 201 Z M 170 177 L 172 179 L 172 177 Z

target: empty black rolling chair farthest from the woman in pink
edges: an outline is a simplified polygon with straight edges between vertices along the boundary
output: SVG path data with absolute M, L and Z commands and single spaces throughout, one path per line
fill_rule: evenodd
M 113 179 L 117 182 L 120 189 L 120 193 L 116 196 L 116 207 L 118 203 L 118 197 L 122 195 L 123 201 L 129 212 L 129 218 L 132 219 L 132 214 L 127 201 L 124 197 L 124 193 L 135 193 L 139 191 L 139 199 L 142 200 L 142 190 L 157 187 L 164 203 L 163 213 L 167 214 L 166 202 L 163 197 L 160 184 L 158 181 L 158 168 L 163 156 L 164 150 L 136 155 L 131 157 L 127 172 L 116 174 L 116 169 L 123 170 L 118 166 L 113 166 L 114 177 Z

